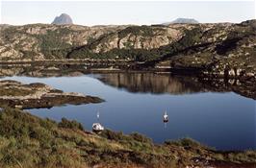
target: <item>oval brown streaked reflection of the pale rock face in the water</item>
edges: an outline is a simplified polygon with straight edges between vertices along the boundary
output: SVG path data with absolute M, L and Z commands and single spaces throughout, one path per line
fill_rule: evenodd
M 192 83 L 181 82 L 177 78 L 154 73 L 103 74 L 99 80 L 105 84 L 125 88 L 130 92 L 183 94 L 200 91 Z

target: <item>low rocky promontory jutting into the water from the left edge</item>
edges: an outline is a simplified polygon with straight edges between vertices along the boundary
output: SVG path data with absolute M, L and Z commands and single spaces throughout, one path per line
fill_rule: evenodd
M 46 84 L 22 84 L 16 81 L 0 81 L 0 107 L 52 108 L 65 104 L 80 105 L 101 103 L 98 97 L 80 93 L 63 92 Z

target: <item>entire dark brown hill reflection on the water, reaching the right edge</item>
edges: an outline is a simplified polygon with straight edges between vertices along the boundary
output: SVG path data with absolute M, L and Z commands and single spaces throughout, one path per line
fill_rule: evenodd
M 187 94 L 196 92 L 229 92 L 234 91 L 245 97 L 256 99 L 256 88 L 253 84 L 239 80 L 207 79 L 189 76 L 170 76 L 154 73 L 114 73 L 97 77 L 104 84 L 125 88 L 130 92 L 151 92 Z

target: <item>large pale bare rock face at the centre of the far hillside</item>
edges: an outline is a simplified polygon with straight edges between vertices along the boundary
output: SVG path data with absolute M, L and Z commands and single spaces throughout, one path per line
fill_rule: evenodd
M 103 36 L 92 46 L 92 49 L 95 53 L 113 49 L 155 49 L 180 39 L 182 32 L 171 27 L 131 26 Z

